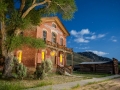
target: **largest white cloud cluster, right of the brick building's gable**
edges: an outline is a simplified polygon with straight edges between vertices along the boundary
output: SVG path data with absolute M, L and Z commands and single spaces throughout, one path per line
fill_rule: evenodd
M 105 34 L 96 35 L 95 32 L 90 32 L 89 29 L 82 29 L 81 31 L 71 30 L 70 34 L 74 36 L 74 41 L 77 43 L 89 43 L 90 40 L 105 37 Z

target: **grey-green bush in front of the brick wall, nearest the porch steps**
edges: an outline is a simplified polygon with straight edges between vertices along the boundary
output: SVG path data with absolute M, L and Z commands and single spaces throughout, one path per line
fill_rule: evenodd
M 44 77 L 52 70 L 52 61 L 50 59 L 46 59 L 42 61 L 40 65 L 37 65 L 35 71 L 35 77 L 38 79 L 44 79 Z

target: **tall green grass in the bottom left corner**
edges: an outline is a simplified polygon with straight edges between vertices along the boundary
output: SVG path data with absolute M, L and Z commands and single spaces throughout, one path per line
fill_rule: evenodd
M 0 90 L 21 90 L 22 85 L 20 83 L 10 83 L 10 82 L 2 82 L 0 84 Z

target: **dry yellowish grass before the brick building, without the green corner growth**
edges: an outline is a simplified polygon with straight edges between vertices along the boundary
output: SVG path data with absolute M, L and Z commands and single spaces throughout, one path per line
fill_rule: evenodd
M 83 79 L 85 78 L 52 74 L 52 75 L 47 76 L 43 80 L 38 80 L 38 79 L 25 79 L 25 80 L 12 79 L 12 80 L 7 80 L 7 81 L 0 80 L 0 84 L 2 84 L 3 82 L 8 82 L 8 83 L 11 83 L 12 85 L 22 84 L 23 88 L 32 88 L 32 87 L 41 87 L 41 86 L 46 86 L 46 85 L 78 81 L 78 80 L 83 80 Z

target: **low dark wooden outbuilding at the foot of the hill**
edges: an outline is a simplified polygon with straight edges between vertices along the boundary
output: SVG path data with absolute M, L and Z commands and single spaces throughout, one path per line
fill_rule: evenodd
M 101 62 L 82 62 L 79 64 L 81 72 L 118 74 L 118 60 Z

